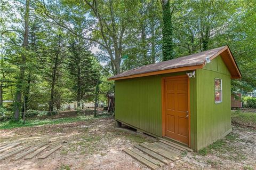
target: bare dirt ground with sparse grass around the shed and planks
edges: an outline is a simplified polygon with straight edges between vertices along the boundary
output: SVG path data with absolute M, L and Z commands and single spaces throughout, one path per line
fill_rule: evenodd
M 114 128 L 113 118 L 0 130 L 0 142 L 27 145 L 49 142 L 60 150 L 46 159 L 0 161 L 0 169 L 148 169 L 122 149 L 154 137 Z M 51 147 L 51 148 L 52 148 Z M 48 149 L 50 150 L 50 148 Z M 233 132 L 199 153 L 188 152 L 162 169 L 256 169 L 256 131 L 233 126 Z

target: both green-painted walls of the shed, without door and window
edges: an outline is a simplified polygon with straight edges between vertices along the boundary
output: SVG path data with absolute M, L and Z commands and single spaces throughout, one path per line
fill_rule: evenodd
M 189 71 L 186 71 L 189 72 Z M 161 78 L 186 72 L 115 81 L 115 119 L 162 136 Z M 222 103 L 214 102 L 214 78 L 222 79 Z M 190 78 L 191 148 L 202 149 L 231 129 L 230 74 L 220 56 Z

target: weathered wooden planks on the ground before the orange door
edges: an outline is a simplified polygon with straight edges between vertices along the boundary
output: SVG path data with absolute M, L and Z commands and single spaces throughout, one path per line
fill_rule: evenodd
M 123 151 L 147 167 L 157 169 L 170 164 L 171 161 L 179 160 L 182 152 L 193 150 L 159 137 L 158 142 L 144 142 L 134 145 L 133 148 L 126 148 Z

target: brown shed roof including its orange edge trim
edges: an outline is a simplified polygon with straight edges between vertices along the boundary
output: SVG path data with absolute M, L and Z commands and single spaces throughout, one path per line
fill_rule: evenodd
M 222 56 L 221 55 L 222 53 L 223 54 L 227 53 L 227 54 Z M 222 59 L 223 57 L 225 57 L 225 60 L 223 59 L 225 63 L 233 62 L 231 63 L 231 65 L 226 63 L 229 71 L 231 70 L 230 71 L 231 76 L 233 76 L 233 78 L 241 78 L 241 74 L 233 58 L 233 55 L 229 50 L 229 47 L 222 46 L 222 47 L 214 48 L 212 50 L 203 51 L 201 53 L 182 56 L 177 59 L 149 64 L 146 66 L 127 70 L 122 72 L 121 74 L 115 75 L 108 79 L 109 80 L 126 79 L 126 78 L 143 77 L 143 76 L 164 74 L 168 72 L 178 72 L 178 71 L 186 71 L 186 70 L 203 68 L 206 63 L 206 56 L 208 56 L 210 60 L 212 60 L 218 55 L 221 55 Z M 232 67 L 235 67 L 235 71 Z

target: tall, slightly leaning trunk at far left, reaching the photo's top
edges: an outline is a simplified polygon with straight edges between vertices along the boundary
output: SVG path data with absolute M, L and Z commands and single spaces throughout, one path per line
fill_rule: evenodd
M 22 47 L 25 49 L 28 46 L 28 34 L 29 34 L 28 21 L 29 21 L 29 0 L 26 0 L 25 33 L 23 35 L 23 44 L 22 44 Z M 26 64 L 26 54 L 22 52 L 21 63 L 20 63 L 20 73 L 19 73 L 19 78 L 16 85 L 17 90 L 16 90 L 15 102 L 14 102 L 14 120 L 19 120 L 20 118 L 21 95 L 22 95 L 23 79 L 25 75 L 25 64 Z

